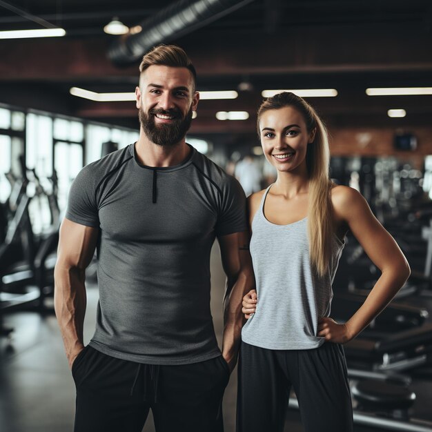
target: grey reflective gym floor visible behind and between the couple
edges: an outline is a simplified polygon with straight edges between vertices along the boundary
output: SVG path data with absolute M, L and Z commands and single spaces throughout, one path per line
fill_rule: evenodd
M 212 310 L 215 331 L 222 337 L 222 295 L 224 274 L 217 246 L 211 256 Z M 424 299 L 422 302 L 432 311 Z M 90 340 L 95 328 L 97 286 L 88 284 L 88 306 L 84 325 L 85 342 Z M 430 306 L 430 307 L 429 307 Z M 2 432 L 67 432 L 73 429 L 75 386 L 63 353 L 63 342 L 54 313 L 41 316 L 35 311 L 10 313 L 5 325 L 14 328 L 12 338 L 0 340 L 0 431 Z M 429 377 L 428 377 L 429 375 Z M 414 378 L 413 390 L 417 401 L 414 418 L 432 421 L 432 373 Z M 236 371 L 231 375 L 224 397 L 225 431 L 235 431 Z M 355 432 L 377 432 L 366 426 L 355 426 Z M 149 416 L 143 432 L 154 431 Z M 289 411 L 286 432 L 302 432 L 300 415 Z M 264 431 L 263 431 L 264 432 Z

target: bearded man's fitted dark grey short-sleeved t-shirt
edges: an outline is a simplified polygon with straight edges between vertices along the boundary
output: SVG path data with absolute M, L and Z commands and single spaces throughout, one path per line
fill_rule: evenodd
M 191 148 L 167 168 L 135 146 L 85 166 L 66 218 L 99 228 L 93 348 L 124 360 L 188 364 L 220 355 L 210 314 L 215 237 L 247 229 L 242 187 Z

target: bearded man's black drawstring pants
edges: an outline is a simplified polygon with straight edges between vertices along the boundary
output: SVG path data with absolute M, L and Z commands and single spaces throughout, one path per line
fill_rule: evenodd
M 72 365 L 75 432 L 141 432 L 151 409 L 156 432 L 223 432 L 230 371 L 222 357 L 166 366 L 119 360 L 86 346 Z

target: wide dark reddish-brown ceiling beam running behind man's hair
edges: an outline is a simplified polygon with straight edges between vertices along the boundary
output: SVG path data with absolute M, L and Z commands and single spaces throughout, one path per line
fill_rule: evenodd
M 415 26 L 292 28 L 277 35 L 206 32 L 183 46 L 199 77 L 359 71 L 432 71 L 432 33 Z M 0 81 L 70 81 L 136 77 L 138 64 L 117 68 L 103 39 L 0 41 Z

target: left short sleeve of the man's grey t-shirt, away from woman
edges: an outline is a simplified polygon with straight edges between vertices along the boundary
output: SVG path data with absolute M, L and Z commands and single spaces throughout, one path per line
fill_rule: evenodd
M 92 165 L 85 166 L 72 181 L 68 195 L 66 218 L 77 224 L 99 226 Z

